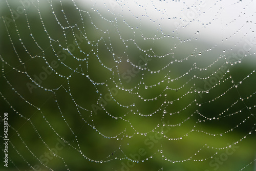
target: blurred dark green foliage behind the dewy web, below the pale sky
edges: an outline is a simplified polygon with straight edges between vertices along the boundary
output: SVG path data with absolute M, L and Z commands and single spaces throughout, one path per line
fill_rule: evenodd
M 233 88 L 223 95 L 221 94 L 233 86 L 230 81 L 221 82 L 216 88 L 210 89 L 209 93 L 194 92 L 195 89 L 206 91 L 204 88 L 207 87 L 206 84 L 208 88 L 212 88 L 214 84 L 210 83 L 210 79 L 216 76 L 205 80 L 188 80 L 194 75 L 197 77 L 209 76 L 212 72 L 217 71 L 218 67 L 225 61 L 220 59 L 219 63 L 216 64 L 217 67 L 208 68 L 205 72 L 195 69 L 188 74 L 185 73 L 193 68 L 195 62 L 198 66 L 207 66 L 207 63 L 212 63 L 211 60 L 216 60 L 216 56 L 218 56 L 217 50 L 209 52 L 209 56 L 191 57 L 182 62 L 175 62 L 174 65 L 169 65 L 163 69 L 166 63 L 174 60 L 173 54 L 170 53 L 164 58 L 147 57 L 145 52 L 137 48 L 137 45 L 142 49 L 152 48 L 147 52 L 151 56 L 154 56 L 153 51 L 157 55 L 164 55 L 169 53 L 170 44 L 174 45 L 176 40 L 166 38 L 161 41 L 144 41 L 141 33 L 137 31 L 140 29 L 131 32 L 131 29 L 124 24 L 121 18 L 117 18 L 118 28 L 116 28 L 116 25 L 102 19 L 98 12 L 89 7 L 83 9 L 82 6 L 79 6 L 81 10 L 89 12 L 86 13 L 76 10 L 70 1 L 62 2 L 62 6 L 59 2 L 54 2 L 56 3 L 53 3 L 52 8 L 54 8 L 55 13 L 52 13 L 48 1 L 34 2 L 34 5 L 30 4 L 26 12 L 18 14 L 16 11 L 18 15 L 15 16 L 15 22 L 6 19 L 12 18 L 11 11 L 15 14 L 15 9 L 21 5 L 20 2 L 8 1 L 11 10 L 4 1 L 1 2 L 1 116 L 3 112 L 8 112 L 10 124 L 9 167 L 6 169 L 1 164 L 1 170 L 31 170 L 31 167 L 36 170 L 49 170 L 50 168 L 65 170 L 67 169 L 65 165 L 70 170 L 159 170 L 161 168 L 163 170 L 214 170 L 214 168 L 217 169 L 217 165 L 212 165 L 211 162 L 215 158 L 209 157 L 216 152 L 218 154 L 214 157 L 227 154 L 227 149 L 216 150 L 211 149 L 211 147 L 228 146 L 228 143 L 233 144 L 252 131 L 255 115 L 249 119 L 246 118 L 255 113 L 255 108 L 249 112 L 245 106 L 255 105 L 255 96 L 248 100 L 239 101 L 236 105 L 232 104 L 240 97 L 244 98 L 254 93 L 255 74 L 250 75 L 237 89 Z M 66 15 L 61 12 L 62 8 Z M 76 27 L 63 30 L 57 23 L 55 15 L 63 27 L 74 25 Z M 104 14 L 103 17 L 114 20 L 116 16 Z M 136 22 L 133 24 L 137 25 Z M 142 31 L 144 36 L 154 36 L 151 29 L 143 28 Z M 133 40 L 127 41 L 127 48 L 119 34 L 123 35 L 123 39 L 134 39 L 137 45 L 134 44 Z M 76 46 L 77 44 L 79 47 Z M 194 49 L 196 45 L 184 42 L 181 46 L 185 46 L 187 50 L 179 49 L 179 47 L 171 50 L 177 59 L 187 56 L 190 49 Z M 121 62 L 114 60 L 113 53 L 115 53 L 116 59 L 119 58 Z M 89 55 L 87 56 L 87 54 Z M 82 60 L 84 58 L 87 59 Z M 104 63 L 105 67 L 102 67 L 100 61 Z M 140 66 L 141 69 L 132 66 L 131 62 Z M 239 65 L 226 64 L 229 73 L 225 70 L 225 73 L 222 73 L 225 76 L 221 81 L 231 75 L 234 82 L 239 82 L 255 69 L 255 62 L 255 56 L 247 56 Z M 161 72 L 151 74 L 147 69 L 161 70 Z M 17 72 L 18 70 L 20 72 Z M 132 71 L 132 75 L 127 73 L 129 70 Z M 43 72 L 50 74 L 47 73 L 45 76 L 47 78 L 44 80 L 35 80 L 37 84 L 30 79 L 40 75 L 44 77 Z M 122 76 L 123 74 L 126 77 Z M 183 77 L 175 79 L 183 74 L 185 74 Z M 166 75 L 171 75 L 172 78 L 165 78 Z M 71 77 L 67 80 L 64 76 Z M 156 84 L 156 86 L 145 89 L 144 84 L 140 82 L 142 78 L 145 85 Z M 175 80 L 169 83 L 166 81 L 171 79 Z M 105 82 L 108 87 L 100 83 L 94 85 L 91 80 Z M 116 83 L 121 82 L 124 90 L 116 88 L 113 80 Z M 161 80 L 165 81 L 162 83 Z M 158 82 L 161 84 L 158 85 Z M 33 85 L 30 87 L 31 89 L 28 88 L 28 83 L 30 86 Z M 180 88 L 182 85 L 184 87 Z M 165 90 L 166 86 L 173 90 Z M 155 98 L 159 94 L 162 96 L 158 97 L 157 100 L 144 101 L 134 93 L 135 91 L 133 91 L 134 94 L 125 91 L 125 89 L 134 87 L 139 87 L 138 94 L 144 98 Z M 92 105 L 97 105 L 100 94 L 104 99 L 109 95 L 109 90 L 112 88 L 117 92 L 114 96 L 115 101 L 111 99 L 104 106 L 105 110 L 99 109 L 97 114 L 91 115 Z M 99 93 L 96 92 L 97 90 Z M 186 92 L 193 93 L 181 98 Z M 164 96 L 165 94 L 166 96 Z M 216 97 L 219 99 L 208 103 Z M 177 100 L 177 98 L 180 99 Z M 195 99 L 196 101 L 191 103 Z M 165 100 L 173 101 L 173 104 L 167 105 L 165 109 L 159 108 Z M 125 109 L 116 101 L 130 107 Z M 201 104 L 201 106 L 196 103 Z M 86 110 L 78 109 L 76 104 Z M 186 106 L 186 110 L 182 110 Z M 229 106 L 229 110 L 224 114 L 226 117 L 217 119 L 217 115 Z M 37 108 L 40 108 L 40 111 Z M 139 110 L 141 115 L 157 112 L 150 117 L 143 117 L 138 114 L 134 115 L 131 109 L 133 112 Z M 166 110 L 167 113 L 164 119 L 160 121 L 163 117 L 163 110 Z M 242 111 L 238 114 L 228 116 L 228 114 L 240 110 Z M 108 111 L 114 118 L 107 115 L 105 111 Z M 177 111 L 180 112 L 177 113 Z M 204 118 L 195 111 L 208 118 L 216 117 L 216 119 L 206 119 L 204 122 Z M 169 113 L 174 114 L 169 115 Z M 117 120 L 115 117 L 122 117 L 123 119 Z M 186 120 L 188 117 L 189 119 Z M 245 124 L 242 123 L 236 127 L 245 119 Z M 198 120 L 202 120 L 202 122 L 198 122 Z M 94 125 L 97 131 L 88 123 Z M 163 127 L 163 123 L 182 124 L 181 126 Z M 158 124 L 159 127 L 155 129 Z M 164 136 L 167 137 L 178 138 L 186 134 L 188 136 L 182 137 L 181 140 L 168 140 L 161 134 L 163 128 L 165 130 Z M 195 131 L 190 132 L 192 129 Z M 202 133 L 221 134 L 230 129 L 233 131 L 223 134 L 223 136 Z M 124 130 L 124 135 L 132 137 L 123 137 L 121 140 L 121 132 Z M 154 132 L 148 132 L 148 130 L 154 130 Z M 141 136 L 140 134 L 137 135 L 137 132 L 147 134 Z M 75 135 L 78 142 L 76 142 Z M 105 138 L 102 135 L 120 136 Z M 63 137 L 68 143 L 62 142 L 61 150 L 57 151 L 58 157 L 51 156 L 51 159 L 48 158 L 49 160 L 47 160 L 46 154 L 50 153 L 49 148 L 56 148 L 56 144 L 60 143 L 59 137 Z M 237 145 L 239 148 L 232 155 L 227 155 L 227 159 L 218 164 L 218 170 L 238 170 L 249 164 L 255 158 L 254 143 L 255 131 L 248 135 L 248 138 L 239 142 Z M 210 148 L 202 148 L 205 144 Z M 142 152 L 142 148 L 145 151 Z M 200 148 L 202 150 L 198 153 Z M 163 153 L 157 152 L 159 149 L 162 149 Z M 139 155 L 140 153 L 143 155 Z M 197 155 L 194 155 L 195 153 Z M 86 155 L 90 160 L 83 155 Z M 119 160 L 124 155 L 131 159 L 139 158 L 144 162 Z M 193 160 L 203 159 L 203 161 L 173 163 L 165 160 L 166 157 L 173 161 L 181 161 L 191 156 L 193 156 Z M 115 160 L 116 157 L 117 160 Z M 40 163 L 39 160 L 42 162 Z M 94 160 L 111 161 L 97 163 Z M 217 162 L 213 163 L 216 164 Z M 249 165 L 245 170 L 252 170 L 252 167 L 253 165 Z

